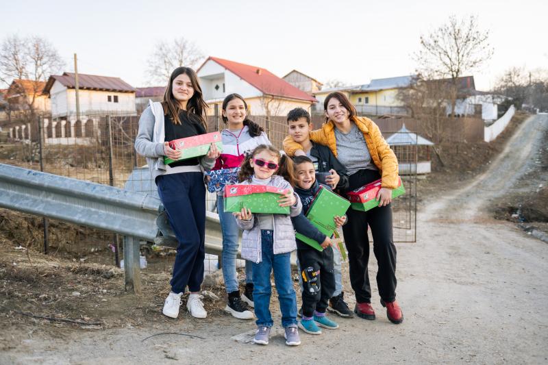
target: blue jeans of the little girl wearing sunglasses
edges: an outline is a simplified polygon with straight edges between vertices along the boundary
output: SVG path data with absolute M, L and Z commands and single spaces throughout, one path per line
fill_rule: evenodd
M 253 302 L 257 325 L 272 327 L 269 310 L 272 288 L 270 275 L 274 270 L 274 281 L 278 292 L 279 309 L 282 311 L 282 326 L 297 324 L 297 295 L 291 279 L 290 253 L 274 255 L 273 231 L 261 231 L 262 261 L 253 262 Z

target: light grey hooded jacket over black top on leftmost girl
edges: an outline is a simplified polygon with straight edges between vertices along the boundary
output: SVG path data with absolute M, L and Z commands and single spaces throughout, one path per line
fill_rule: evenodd
M 157 176 L 166 173 L 166 166 L 164 165 L 165 140 L 162 103 L 149 101 L 149 107 L 142 112 L 139 119 L 139 131 L 135 138 L 135 151 L 147 158 L 150 175 L 154 181 Z M 200 159 L 200 166 L 206 170 L 210 170 L 214 164 L 215 160 L 207 156 L 202 156 Z M 196 171 L 200 171 L 200 169 L 197 168 Z

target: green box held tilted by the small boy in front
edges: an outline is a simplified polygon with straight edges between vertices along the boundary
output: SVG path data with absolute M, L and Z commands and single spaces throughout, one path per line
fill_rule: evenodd
M 335 194 L 331 190 L 322 186 L 316 193 L 316 197 L 314 197 L 312 205 L 308 208 L 306 218 L 308 218 L 308 220 L 312 222 L 312 224 L 316 226 L 321 233 L 331 238 L 337 230 L 334 217 L 344 216 L 349 206 L 350 202 L 347 201 L 347 199 L 340 197 L 338 194 Z M 312 240 L 312 238 L 303 236 L 298 232 L 295 234 L 295 237 L 311 247 L 314 247 L 314 249 L 323 251 L 320 246 L 321 242 L 316 242 Z

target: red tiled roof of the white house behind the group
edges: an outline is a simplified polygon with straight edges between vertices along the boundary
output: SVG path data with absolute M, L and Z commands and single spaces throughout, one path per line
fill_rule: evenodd
M 266 68 L 258 66 L 250 66 L 249 64 L 240 64 L 238 62 L 223 60 L 222 58 L 216 58 L 210 56 L 202 66 L 209 60 L 217 62 L 228 71 L 238 75 L 248 84 L 255 86 L 266 95 L 273 95 L 276 97 L 286 97 L 289 99 L 305 100 L 314 103 L 317 100 L 311 97 L 306 92 L 299 90 L 295 86 L 289 84 L 286 80 L 280 79 Z M 200 66 L 198 71 L 200 71 Z

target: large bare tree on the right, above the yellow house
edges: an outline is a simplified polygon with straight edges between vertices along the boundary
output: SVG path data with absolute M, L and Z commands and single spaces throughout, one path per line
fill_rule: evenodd
M 421 49 L 414 54 L 417 73 L 425 79 L 451 80 L 455 89 L 451 99 L 453 113 L 458 78 L 476 70 L 493 55 L 488 38 L 489 31 L 479 29 L 476 16 L 462 19 L 450 16 L 447 23 L 421 36 Z

